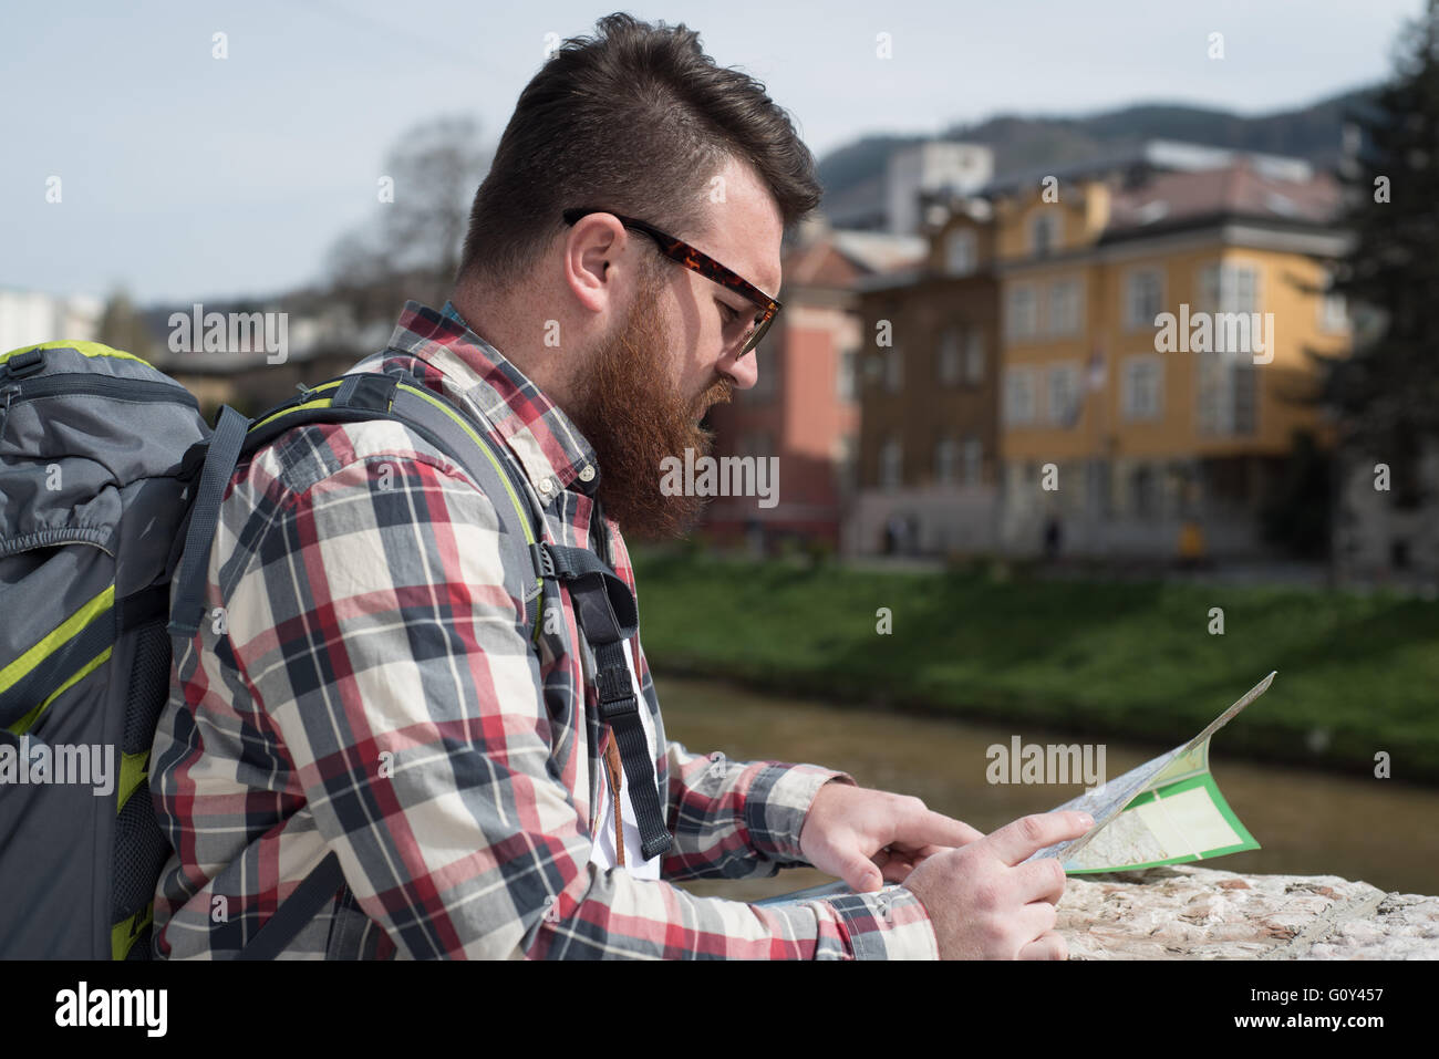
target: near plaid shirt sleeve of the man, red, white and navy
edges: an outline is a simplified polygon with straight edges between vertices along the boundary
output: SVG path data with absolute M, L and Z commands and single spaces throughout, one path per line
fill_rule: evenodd
M 452 468 L 367 456 L 256 502 L 249 558 L 220 578 L 236 679 L 278 737 L 298 812 L 400 955 L 934 955 L 912 895 L 770 909 L 590 863 L 495 508 Z M 793 853 L 819 774 L 753 777 L 766 797 L 747 826 Z

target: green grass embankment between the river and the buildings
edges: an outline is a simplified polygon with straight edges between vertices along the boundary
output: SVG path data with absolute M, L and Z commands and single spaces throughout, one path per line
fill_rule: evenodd
M 636 555 L 661 673 L 1177 745 L 1279 671 L 1225 754 L 1439 783 L 1439 604 Z M 876 632 L 888 607 L 892 632 Z M 1210 609 L 1225 633 L 1210 635 Z

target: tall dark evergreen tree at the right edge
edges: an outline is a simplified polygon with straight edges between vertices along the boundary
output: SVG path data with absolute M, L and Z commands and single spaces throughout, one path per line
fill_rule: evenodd
M 1360 132 L 1345 165 L 1340 224 L 1354 242 L 1334 289 L 1371 311 L 1356 325 L 1348 358 L 1322 363 L 1321 397 L 1357 449 L 1413 466 L 1439 440 L 1439 357 L 1430 314 L 1439 309 L 1439 0 L 1399 39 L 1394 75 L 1351 112 Z

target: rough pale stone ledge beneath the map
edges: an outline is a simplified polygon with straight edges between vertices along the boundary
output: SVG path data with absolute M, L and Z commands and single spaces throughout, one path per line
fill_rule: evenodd
M 1071 876 L 1056 930 L 1071 960 L 1439 960 L 1439 896 L 1174 865 Z

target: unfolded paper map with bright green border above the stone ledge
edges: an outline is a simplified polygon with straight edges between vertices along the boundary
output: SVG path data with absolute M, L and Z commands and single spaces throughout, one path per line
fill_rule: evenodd
M 1078 809 L 1089 813 L 1094 827 L 1079 839 L 1040 849 L 1025 863 L 1058 856 L 1066 873 L 1082 875 L 1179 865 L 1259 849 L 1259 843 L 1239 823 L 1209 774 L 1209 741 L 1239 711 L 1263 695 L 1274 676 L 1269 673 L 1263 678 L 1184 745 L 1055 806 L 1055 812 Z M 848 883 L 833 882 L 755 904 L 783 904 L 850 892 Z

